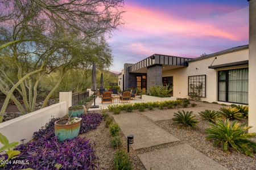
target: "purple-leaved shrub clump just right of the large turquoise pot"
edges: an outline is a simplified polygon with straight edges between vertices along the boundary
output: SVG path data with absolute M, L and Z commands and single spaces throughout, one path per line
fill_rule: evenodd
M 79 133 L 86 133 L 89 130 L 96 129 L 102 121 L 102 116 L 100 113 L 82 114 L 81 118 L 82 120 Z

